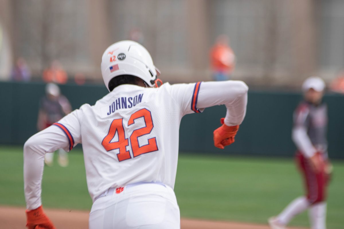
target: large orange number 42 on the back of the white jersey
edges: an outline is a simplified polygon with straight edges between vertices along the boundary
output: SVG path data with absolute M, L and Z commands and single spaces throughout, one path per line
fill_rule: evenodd
M 129 137 L 133 157 L 137 157 L 143 153 L 149 153 L 158 150 L 157 139 L 155 139 L 155 137 L 149 138 L 147 145 L 139 146 L 138 138 L 151 133 L 153 129 L 152 115 L 149 110 L 143 108 L 133 113 L 129 118 L 128 126 L 133 125 L 135 123 L 135 119 L 141 117 L 144 118 L 146 126 L 135 129 Z M 118 141 L 111 142 L 111 140 L 115 137 L 116 132 L 118 134 Z M 112 121 L 109 133 L 105 136 L 105 138 L 101 142 L 101 145 L 103 145 L 106 151 L 119 149 L 119 153 L 117 154 L 118 161 L 124 161 L 131 158 L 130 152 L 126 150 L 126 147 L 129 145 L 129 140 L 125 136 L 123 118 L 114 119 Z

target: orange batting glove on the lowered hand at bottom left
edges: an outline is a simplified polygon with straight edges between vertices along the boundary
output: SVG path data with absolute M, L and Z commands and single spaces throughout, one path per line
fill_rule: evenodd
M 26 227 L 29 229 L 56 229 L 50 219 L 45 215 L 42 206 L 26 210 Z

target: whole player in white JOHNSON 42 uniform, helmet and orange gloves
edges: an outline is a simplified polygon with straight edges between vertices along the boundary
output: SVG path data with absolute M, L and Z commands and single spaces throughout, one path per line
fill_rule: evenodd
M 108 47 L 101 72 L 107 95 L 93 106 L 82 105 L 24 145 L 27 225 L 54 228 L 41 206 L 44 154 L 82 143 L 93 200 L 90 229 L 180 228 L 173 187 L 181 118 L 225 105 L 223 125 L 214 131 L 214 145 L 223 149 L 234 142 L 245 117 L 247 85 L 224 81 L 158 88 L 160 73 L 150 54 L 133 41 Z

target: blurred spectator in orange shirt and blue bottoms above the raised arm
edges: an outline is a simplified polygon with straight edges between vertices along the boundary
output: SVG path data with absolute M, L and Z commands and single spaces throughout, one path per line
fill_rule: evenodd
M 216 81 L 229 80 L 235 66 L 235 55 L 229 47 L 229 38 L 219 35 L 210 52 L 213 78 Z

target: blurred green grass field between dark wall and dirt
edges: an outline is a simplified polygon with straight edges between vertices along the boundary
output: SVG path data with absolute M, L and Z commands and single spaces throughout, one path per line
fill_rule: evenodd
M 55 153 L 55 159 L 57 154 Z M 90 210 L 83 154 L 69 153 L 69 166 L 45 167 L 45 207 Z M 56 160 L 55 160 L 56 161 Z M 333 162 L 327 227 L 344 225 L 344 162 Z M 175 193 L 182 217 L 266 223 L 292 199 L 303 194 L 292 159 L 212 156 L 180 153 Z M 0 205 L 25 206 L 21 147 L 0 146 Z M 303 213 L 291 225 L 308 226 Z

